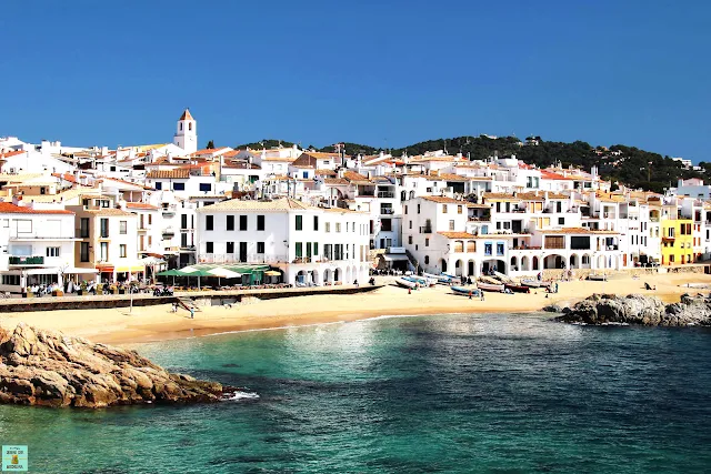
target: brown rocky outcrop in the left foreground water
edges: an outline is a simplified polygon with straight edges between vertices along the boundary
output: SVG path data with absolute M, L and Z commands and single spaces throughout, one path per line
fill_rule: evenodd
M 98 409 L 217 402 L 222 394 L 221 384 L 171 374 L 136 351 L 23 323 L 11 334 L 0 329 L 0 403 Z

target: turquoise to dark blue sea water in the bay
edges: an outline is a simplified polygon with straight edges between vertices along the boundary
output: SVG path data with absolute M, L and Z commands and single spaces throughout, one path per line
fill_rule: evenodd
M 532 315 L 378 319 L 137 346 L 259 399 L 0 406 L 41 473 L 711 468 L 711 331 Z

